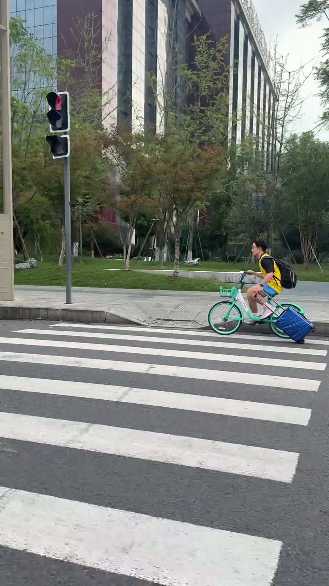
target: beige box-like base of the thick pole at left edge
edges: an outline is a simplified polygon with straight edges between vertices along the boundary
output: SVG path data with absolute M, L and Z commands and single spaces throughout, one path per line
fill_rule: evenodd
M 0 301 L 12 301 L 14 298 L 12 247 L 10 218 L 8 214 L 0 214 Z

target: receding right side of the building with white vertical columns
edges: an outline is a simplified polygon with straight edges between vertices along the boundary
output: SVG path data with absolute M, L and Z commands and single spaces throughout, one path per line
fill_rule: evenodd
M 211 23 L 209 29 L 215 40 L 227 38 L 229 139 L 239 143 L 246 135 L 253 135 L 264 153 L 265 165 L 270 166 L 275 90 L 269 47 L 252 0 L 198 0 L 198 7 L 202 16 L 200 19 L 193 13 L 194 30 L 198 33 L 204 19 L 203 33 Z

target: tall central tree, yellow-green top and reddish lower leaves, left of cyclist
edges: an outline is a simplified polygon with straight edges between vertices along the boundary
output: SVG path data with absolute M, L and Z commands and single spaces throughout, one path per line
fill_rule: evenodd
M 218 145 L 226 144 L 228 137 L 229 70 L 224 63 L 226 39 L 215 43 L 210 35 L 195 37 L 193 48 L 193 62 L 189 67 L 181 62 L 177 47 L 170 41 L 167 74 L 162 74 L 161 83 L 157 86 L 153 80 L 157 117 L 162 122 L 158 125 L 156 138 L 157 156 L 153 156 L 159 204 L 157 241 L 162 260 L 167 234 L 174 232 L 175 277 L 179 274 L 181 231 L 187 223 L 193 225 L 198 206 L 204 209 L 209 201 L 214 176 L 222 168 L 224 149 L 218 149 Z M 217 172 L 214 172 L 211 163 L 214 159 L 218 165 Z M 207 176 L 202 164 L 208 162 Z M 191 194 L 190 199 L 187 192 Z

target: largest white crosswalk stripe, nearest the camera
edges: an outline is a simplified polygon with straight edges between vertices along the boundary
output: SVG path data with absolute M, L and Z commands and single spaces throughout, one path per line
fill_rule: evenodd
M 0 488 L 0 498 L 2 545 L 156 584 L 265 586 L 280 553 L 279 541 L 52 496 Z

